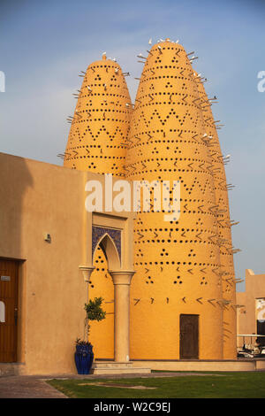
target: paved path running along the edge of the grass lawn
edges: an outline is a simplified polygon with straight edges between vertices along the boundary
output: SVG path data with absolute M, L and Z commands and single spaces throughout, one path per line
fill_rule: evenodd
M 194 375 L 193 373 L 151 373 L 151 374 L 109 374 L 109 375 L 10 375 L 0 377 L 0 398 L 67 398 L 57 389 L 53 389 L 45 380 L 51 379 L 125 379 L 125 378 L 158 378 L 158 377 L 181 377 Z M 208 375 L 208 374 L 196 374 Z

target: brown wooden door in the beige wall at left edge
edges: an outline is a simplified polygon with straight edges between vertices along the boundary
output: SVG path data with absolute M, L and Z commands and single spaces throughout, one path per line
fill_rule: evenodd
M 19 263 L 0 259 L 0 362 L 17 361 Z

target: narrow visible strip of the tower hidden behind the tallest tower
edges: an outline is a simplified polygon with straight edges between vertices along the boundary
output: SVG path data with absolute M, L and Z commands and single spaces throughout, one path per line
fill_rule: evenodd
M 224 170 L 224 163 L 228 160 L 223 156 L 220 143 L 218 140 L 216 126 L 217 123 L 211 111 L 211 103 L 215 102 L 215 97 L 208 99 L 203 84 L 198 81 L 198 89 L 201 96 L 201 111 L 205 130 L 208 134 L 206 143 L 208 151 L 212 158 L 212 174 L 214 176 L 215 193 L 216 193 L 216 219 L 218 235 L 216 241 L 220 248 L 221 269 L 220 275 L 223 280 L 223 298 L 227 301 L 223 304 L 223 358 L 236 358 L 236 285 L 233 264 L 233 247 L 231 241 L 231 224 L 230 219 L 228 189 Z

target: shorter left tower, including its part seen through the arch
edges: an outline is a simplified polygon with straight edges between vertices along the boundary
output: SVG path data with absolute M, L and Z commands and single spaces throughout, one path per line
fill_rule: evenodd
M 87 67 L 73 117 L 64 166 L 123 176 L 132 104 L 121 67 L 111 59 Z M 95 250 L 89 297 L 102 297 L 102 325 L 91 322 L 89 341 L 97 358 L 114 358 L 114 288 L 102 249 Z M 106 343 L 106 339 L 108 343 Z

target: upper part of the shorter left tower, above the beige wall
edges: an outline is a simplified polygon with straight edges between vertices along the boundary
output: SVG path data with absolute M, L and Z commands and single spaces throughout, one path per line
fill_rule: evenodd
M 64 166 L 122 176 L 132 104 L 121 67 L 103 54 L 78 92 Z

